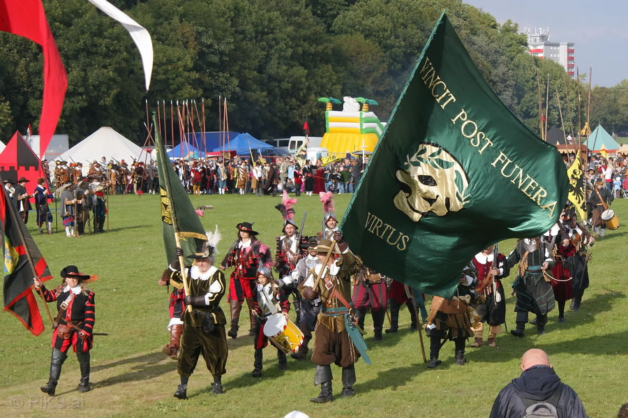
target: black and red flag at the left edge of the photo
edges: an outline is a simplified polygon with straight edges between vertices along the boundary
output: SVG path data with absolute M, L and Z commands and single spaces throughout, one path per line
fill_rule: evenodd
M 4 310 L 13 313 L 37 336 L 44 327 L 33 294 L 33 277 L 44 282 L 52 276 L 4 187 L 0 193 L 0 227 L 4 253 Z

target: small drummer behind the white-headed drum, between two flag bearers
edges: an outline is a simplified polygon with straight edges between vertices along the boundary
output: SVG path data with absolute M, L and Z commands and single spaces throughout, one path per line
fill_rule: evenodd
M 251 314 L 257 318 L 257 327 L 255 327 L 255 368 L 251 372 L 253 378 L 262 377 L 262 349 L 268 345 L 268 336 L 264 334 L 264 324 L 271 315 L 283 315 L 289 320 L 288 311 L 290 311 L 290 302 L 285 293 L 275 283 L 273 273 L 268 267 L 260 267 L 257 269 L 257 299 L 253 301 L 253 309 Z M 272 345 L 275 345 L 271 341 Z M 279 361 L 279 370 L 287 370 L 287 359 L 285 352 L 281 348 L 277 348 L 277 359 Z

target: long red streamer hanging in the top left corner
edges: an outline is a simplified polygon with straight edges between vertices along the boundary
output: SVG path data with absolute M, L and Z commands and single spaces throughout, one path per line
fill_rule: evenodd
M 44 58 L 43 103 L 39 120 L 39 157 L 43 156 L 57 128 L 68 80 L 54 43 L 41 0 L 0 1 L 0 31 L 24 36 L 41 45 Z

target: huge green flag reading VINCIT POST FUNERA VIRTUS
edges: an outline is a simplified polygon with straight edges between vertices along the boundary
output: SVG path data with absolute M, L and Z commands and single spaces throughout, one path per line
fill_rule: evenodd
M 369 267 L 451 297 L 474 254 L 546 232 L 566 200 L 560 154 L 488 87 L 443 13 L 341 228 Z

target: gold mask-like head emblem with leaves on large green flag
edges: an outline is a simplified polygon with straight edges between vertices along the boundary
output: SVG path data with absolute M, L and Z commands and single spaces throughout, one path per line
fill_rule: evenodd
M 397 209 L 414 222 L 433 212 L 444 216 L 469 202 L 469 181 L 463 167 L 442 147 L 419 144 L 397 170 L 401 191 L 394 198 Z

